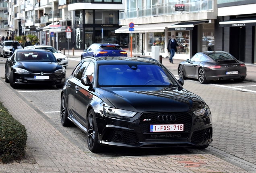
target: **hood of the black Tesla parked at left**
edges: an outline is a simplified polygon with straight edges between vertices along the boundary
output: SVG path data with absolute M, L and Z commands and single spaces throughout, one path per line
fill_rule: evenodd
M 36 73 L 52 73 L 62 66 L 58 64 L 58 62 L 18 62 L 17 66 L 19 68 L 23 68 L 28 70 L 29 72 L 36 72 Z

